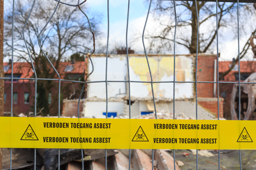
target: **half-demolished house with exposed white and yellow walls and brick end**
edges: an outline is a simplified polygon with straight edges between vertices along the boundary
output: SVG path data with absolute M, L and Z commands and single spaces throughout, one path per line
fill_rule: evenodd
M 173 113 L 173 79 L 174 56 L 163 54 L 149 54 L 156 109 L 160 113 Z M 83 109 L 80 114 L 83 117 L 105 117 L 106 91 L 105 91 L 105 55 L 92 55 L 94 72 L 88 78 L 86 98 L 83 99 Z M 198 81 L 215 81 L 216 79 L 216 55 L 198 56 Z M 87 74 L 92 70 L 90 60 L 86 60 Z M 186 116 L 196 116 L 194 55 L 176 55 L 175 68 L 175 112 L 184 113 Z M 129 69 L 131 80 L 131 117 L 135 118 L 154 112 L 152 98 L 151 77 L 148 70 L 145 55 L 129 54 Z M 129 87 L 126 55 L 108 56 L 108 116 L 129 116 Z M 101 82 L 99 82 L 101 81 Z M 140 83 L 140 82 L 143 83 Z M 166 83 L 160 83 L 166 82 Z M 65 110 L 74 110 L 77 115 L 78 100 L 64 100 L 62 115 L 70 115 Z M 216 86 L 211 83 L 198 83 L 198 117 L 199 119 L 212 119 L 218 115 Z M 69 104 L 72 103 L 72 106 Z M 184 107 L 186 106 L 186 107 Z M 72 107 L 72 109 L 70 108 Z M 222 99 L 220 99 L 220 117 L 223 117 Z

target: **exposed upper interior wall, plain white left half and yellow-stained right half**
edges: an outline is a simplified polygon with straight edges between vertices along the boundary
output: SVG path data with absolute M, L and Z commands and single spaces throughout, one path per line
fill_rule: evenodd
M 156 56 L 148 57 L 153 81 L 173 81 L 174 79 L 174 57 Z M 92 57 L 94 72 L 88 81 L 105 81 L 105 57 Z M 89 64 L 89 72 L 92 70 Z M 129 58 L 131 81 L 151 81 L 150 72 L 144 56 L 130 56 Z M 193 58 L 187 56 L 176 57 L 176 81 L 193 81 Z M 108 80 L 123 81 L 127 79 L 127 65 L 125 55 L 116 55 L 108 58 Z M 128 84 L 126 83 L 128 86 Z M 156 98 L 173 99 L 173 83 L 154 83 L 154 94 Z M 128 87 L 126 87 L 128 88 Z M 175 99 L 193 98 L 194 86 L 192 83 L 176 83 Z M 122 98 L 125 94 L 125 83 L 108 83 L 108 97 Z M 97 97 L 105 99 L 105 83 L 89 83 L 88 98 Z M 131 96 L 135 98 L 151 98 L 151 83 L 131 83 Z

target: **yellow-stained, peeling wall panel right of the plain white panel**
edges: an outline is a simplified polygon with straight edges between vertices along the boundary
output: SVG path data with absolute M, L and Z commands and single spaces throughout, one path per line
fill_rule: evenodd
M 151 82 L 150 71 L 145 57 L 129 59 L 131 81 Z M 174 57 L 148 57 L 152 79 L 156 81 L 174 81 Z M 193 81 L 193 56 L 177 56 L 175 81 Z M 173 99 L 173 83 L 154 83 L 155 98 Z M 193 98 L 193 84 L 176 83 L 175 99 Z M 131 96 L 134 98 L 152 97 L 151 83 L 131 83 Z

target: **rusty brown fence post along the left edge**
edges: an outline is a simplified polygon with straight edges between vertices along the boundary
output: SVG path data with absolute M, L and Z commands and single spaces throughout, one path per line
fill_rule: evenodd
M 0 77 L 4 77 L 4 0 L 0 0 Z M 4 116 L 5 81 L 0 79 L 0 116 Z M 2 170 L 3 148 L 0 149 L 0 170 Z

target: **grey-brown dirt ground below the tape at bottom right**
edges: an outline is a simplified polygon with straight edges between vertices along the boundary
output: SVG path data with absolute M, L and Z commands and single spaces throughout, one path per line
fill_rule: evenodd
M 183 156 L 183 152 L 188 153 L 187 157 Z M 218 151 L 211 151 L 215 156 L 205 157 L 198 155 L 198 169 L 199 170 L 211 170 L 218 169 L 219 156 Z M 173 156 L 173 152 L 169 152 Z M 189 150 L 176 150 L 175 151 L 176 160 L 180 160 L 184 163 L 183 166 L 180 166 L 181 170 L 192 170 L 197 167 L 197 156 L 193 155 Z M 242 157 L 242 169 L 256 169 L 256 151 L 255 150 L 241 150 Z M 232 169 L 240 170 L 239 163 L 239 150 L 221 150 L 220 155 L 220 169 Z

